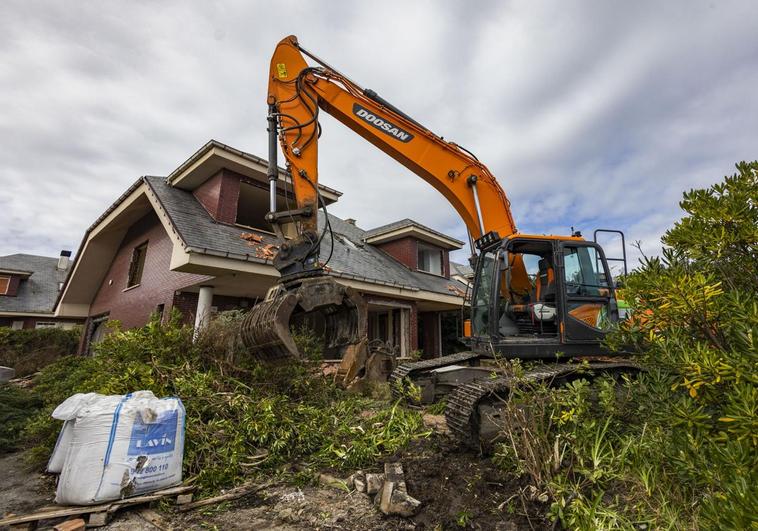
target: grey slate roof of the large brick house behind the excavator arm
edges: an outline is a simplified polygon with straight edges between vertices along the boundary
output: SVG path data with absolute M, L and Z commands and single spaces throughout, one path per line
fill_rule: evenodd
M 143 177 L 143 180 L 190 250 L 271 264 L 266 250 L 276 244 L 273 235 L 216 222 L 192 193 L 171 187 L 163 177 Z M 460 291 L 465 290 L 465 286 L 457 280 L 411 270 L 380 249 L 364 243 L 366 231 L 359 227 L 332 215 L 329 215 L 329 222 L 334 232 L 334 249 L 328 267 L 335 276 L 445 295 L 460 296 Z M 324 223 L 325 218 L 320 215 L 320 229 Z M 256 234 L 261 241 L 254 243 L 244 240 L 241 236 L 245 232 Z M 322 261 L 329 257 L 330 244 L 331 238 L 327 234 L 321 246 Z

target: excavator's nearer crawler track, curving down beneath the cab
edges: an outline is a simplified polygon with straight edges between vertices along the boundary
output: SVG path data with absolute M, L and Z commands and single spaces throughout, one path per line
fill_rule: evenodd
M 537 383 L 561 385 L 566 378 L 595 377 L 609 372 L 624 373 L 640 370 L 639 365 L 626 360 L 591 363 L 589 366 L 559 363 L 545 364 L 527 372 L 521 378 L 503 375 L 494 379 L 469 382 L 460 385 L 448 396 L 445 419 L 450 432 L 462 445 L 486 450 L 494 439 L 492 433 L 482 432 L 480 406 L 501 402 L 514 386 Z

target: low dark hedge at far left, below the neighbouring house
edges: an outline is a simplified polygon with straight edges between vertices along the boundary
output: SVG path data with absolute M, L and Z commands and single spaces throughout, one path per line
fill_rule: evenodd
M 0 328 L 0 365 L 12 367 L 16 376 L 34 374 L 63 356 L 76 354 L 81 329 Z

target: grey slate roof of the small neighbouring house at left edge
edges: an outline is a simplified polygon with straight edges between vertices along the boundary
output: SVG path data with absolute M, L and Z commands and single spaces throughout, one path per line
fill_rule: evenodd
M 0 296 L 0 313 L 53 312 L 58 283 L 66 280 L 67 273 L 58 269 L 58 258 L 33 254 L 0 256 L 0 269 L 32 272 L 29 278 L 21 280 L 15 297 Z

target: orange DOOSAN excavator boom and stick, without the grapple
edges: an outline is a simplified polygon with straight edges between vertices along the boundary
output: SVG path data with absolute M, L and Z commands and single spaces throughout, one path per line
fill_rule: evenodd
M 303 54 L 321 66 L 309 66 Z M 505 192 L 484 164 L 304 50 L 294 36 L 280 41 L 271 59 L 268 103 L 270 133 L 276 121 L 298 208 L 312 213 L 303 219 L 303 230 L 316 229 L 318 117 L 323 110 L 436 188 L 474 239 L 488 232 L 501 237 L 516 232 Z

